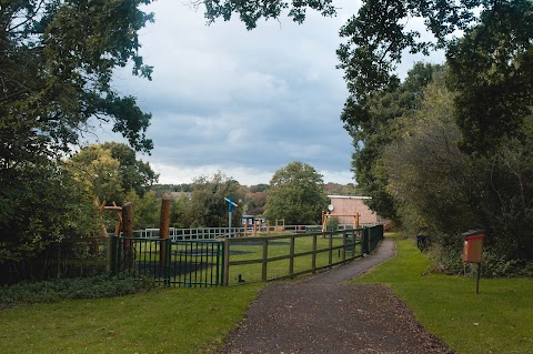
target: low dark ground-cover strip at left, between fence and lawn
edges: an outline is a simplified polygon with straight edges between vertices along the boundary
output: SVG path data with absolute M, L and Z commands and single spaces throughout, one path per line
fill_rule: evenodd
M 20 303 L 53 303 L 67 299 L 98 299 L 137 294 L 155 287 L 152 279 L 103 274 L 93 277 L 21 282 L 0 287 L 0 307 Z

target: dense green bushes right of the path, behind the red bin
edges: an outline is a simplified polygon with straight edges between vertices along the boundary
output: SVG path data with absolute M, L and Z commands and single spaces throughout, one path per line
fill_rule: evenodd
M 453 102 L 436 77 L 421 107 L 402 118 L 401 134 L 383 149 L 386 191 L 404 229 L 429 234 L 447 269 L 462 270 L 461 233 L 479 227 L 489 234 L 485 272 L 521 274 L 533 260 L 533 117 L 524 118 L 520 139 L 502 141 L 490 154 L 472 154 L 461 149 Z

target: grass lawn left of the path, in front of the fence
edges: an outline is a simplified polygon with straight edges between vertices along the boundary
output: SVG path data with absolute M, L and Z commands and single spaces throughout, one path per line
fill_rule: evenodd
M 0 353 L 207 353 L 264 284 L 161 289 L 0 311 Z

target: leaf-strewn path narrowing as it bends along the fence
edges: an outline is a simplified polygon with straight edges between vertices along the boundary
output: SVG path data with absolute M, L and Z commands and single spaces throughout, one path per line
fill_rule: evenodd
M 452 353 L 386 286 L 341 284 L 394 253 L 384 240 L 351 264 L 269 284 L 221 353 Z

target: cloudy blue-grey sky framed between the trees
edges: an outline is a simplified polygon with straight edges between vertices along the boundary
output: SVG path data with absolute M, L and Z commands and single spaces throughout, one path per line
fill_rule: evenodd
M 269 183 L 292 161 L 312 165 L 325 183 L 353 183 L 352 139 L 340 114 L 348 98 L 335 50 L 339 29 L 359 1 L 338 1 L 338 16 L 310 11 L 303 24 L 282 17 L 248 31 L 238 18 L 207 26 L 203 8 L 158 0 L 155 22 L 140 31 L 152 81 L 131 71 L 113 84 L 152 113 L 149 162 L 159 183 L 191 183 L 222 172 L 244 185 Z M 404 69 L 411 67 L 408 63 Z M 120 138 L 102 131 L 98 141 Z

